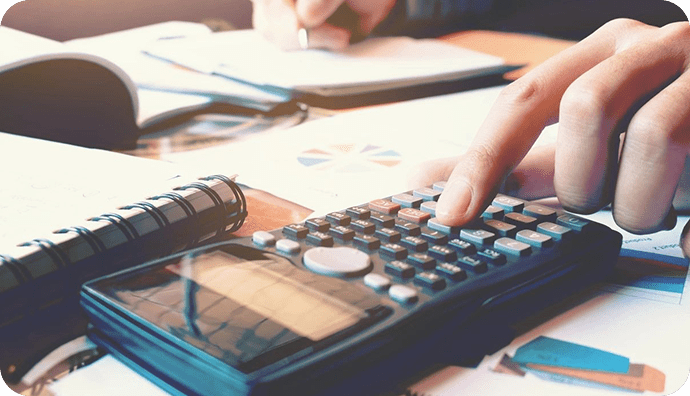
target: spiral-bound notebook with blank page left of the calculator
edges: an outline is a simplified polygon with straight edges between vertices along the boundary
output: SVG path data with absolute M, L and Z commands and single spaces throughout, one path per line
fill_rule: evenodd
M 226 237 L 246 217 L 232 177 L 0 133 L 0 371 L 16 382 L 83 334 L 81 283 Z

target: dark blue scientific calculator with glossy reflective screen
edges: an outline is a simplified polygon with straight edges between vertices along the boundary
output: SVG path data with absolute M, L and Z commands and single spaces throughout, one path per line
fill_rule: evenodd
M 443 188 L 91 281 L 89 337 L 176 395 L 386 394 L 438 365 L 476 365 L 613 269 L 621 235 L 604 225 L 498 195 L 447 226 L 434 215 Z

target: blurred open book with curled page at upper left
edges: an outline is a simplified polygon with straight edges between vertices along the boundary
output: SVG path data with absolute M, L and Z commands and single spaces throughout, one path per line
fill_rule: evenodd
M 131 149 L 147 130 L 199 112 L 270 113 L 285 95 L 176 67 L 140 46 L 208 32 L 166 22 L 65 43 L 0 26 L 0 131 Z

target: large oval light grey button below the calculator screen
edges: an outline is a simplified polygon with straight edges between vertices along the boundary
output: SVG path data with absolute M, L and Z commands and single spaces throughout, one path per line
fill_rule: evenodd
M 371 270 L 369 255 L 351 247 L 317 247 L 304 253 L 304 265 L 326 276 L 359 276 Z

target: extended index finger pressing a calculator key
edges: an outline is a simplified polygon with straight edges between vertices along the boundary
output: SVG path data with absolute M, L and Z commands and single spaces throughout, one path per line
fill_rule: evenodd
M 636 28 L 632 35 L 631 27 Z M 544 127 L 557 121 L 568 86 L 634 42 L 647 31 L 642 27 L 631 20 L 609 22 L 508 85 L 451 173 L 436 206 L 438 219 L 462 225 L 478 217 Z

